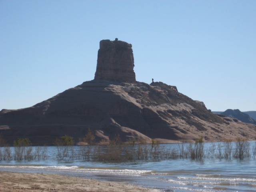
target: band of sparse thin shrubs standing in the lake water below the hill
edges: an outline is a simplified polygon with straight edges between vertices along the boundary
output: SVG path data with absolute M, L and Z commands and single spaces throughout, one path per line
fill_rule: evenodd
M 205 148 L 204 139 L 199 137 L 194 143 L 160 144 L 152 140 L 151 144 L 145 141 L 130 141 L 123 143 L 116 135 L 103 144 L 94 143 L 95 136 L 89 129 L 80 145 L 74 146 L 74 139 L 65 135 L 56 138 L 54 144 L 57 160 L 83 161 L 129 161 L 129 160 L 168 160 L 168 159 L 249 159 L 256 158 L 256 142 L 249 142 L 244 138 L 236 140 L 226 139 L 223 142 L 208 144 Z M 19 138 L 14 146 L 5 144 L 0 135 L 0 160 L 44 160 L 48 158 L 47 146 L 32 146 L 28 138 Z M 51 157 L 52 158 L 52 157 Z

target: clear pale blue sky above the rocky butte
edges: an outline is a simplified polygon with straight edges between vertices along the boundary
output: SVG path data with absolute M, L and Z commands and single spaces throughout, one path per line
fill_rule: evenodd
M 256 110 L 256 0 L 0 0 L 0 110 L 93 80 L 115 38 L 132 44 L 137 81 Z

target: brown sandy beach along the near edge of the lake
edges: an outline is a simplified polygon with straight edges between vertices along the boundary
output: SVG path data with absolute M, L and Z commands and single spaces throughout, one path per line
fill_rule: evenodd
M 1 192 L 159 192 L 124 182 L 106 182 L 58 174 L 0 171 Z

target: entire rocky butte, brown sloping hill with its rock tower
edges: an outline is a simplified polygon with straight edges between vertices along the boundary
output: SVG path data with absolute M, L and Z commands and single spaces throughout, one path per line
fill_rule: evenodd
M 124 142 L 193 141 L 199 136 L 206 141 L 238 136 L 256 138 L 256 125 L 213 114 L 203 102 L 192 100 L 178 92 L 175 86 L 136 82 L 131 45 L 116 41 L 106 41 L 112 45 L 103 46 L 102 62 L 98 53 L 94 80 L 32 107 L 1 110 L 2 137 L 9 144 L 17 138 L 29 138 L 34 145 L 50 145 L 55 138 L 68 134 L 78 143 L 90 128 L 97 142 L 108 141 L 118 134 Z M 123 45 L 116 46 L 117 43 Z M 127 48 L 127 45 L 130 46 Z M 102 46 L 99 52 L 101 49 Z M 111 59 L 107 52 L 112 54 Z M 127 56 L 130 62 L 126 63 L 129 67 L 120 66 L 124 58 L 120 54 L 130 55 Z M 118 70 L 118 66 L 127 67 L 127 70 Z

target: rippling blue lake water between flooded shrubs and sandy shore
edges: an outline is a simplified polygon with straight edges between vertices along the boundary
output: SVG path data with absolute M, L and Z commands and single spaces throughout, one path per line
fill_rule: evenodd
M 250 142 L 251 146 L 255 142 Z M 167 144 L 175 147 L 177 144 Z M 210 143 L 205 143 L 207 149 Z M 121 181 L 162 191 L 219 192 L 256 191 L 256 159 L 130 160 L 126 162 L 87 162 L 57 160 L 56 147 L 48 147 L 45 160 L 0 161 L 0 170 L 54 173 L 106 181 Z

